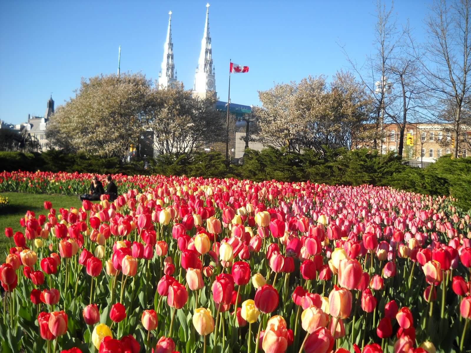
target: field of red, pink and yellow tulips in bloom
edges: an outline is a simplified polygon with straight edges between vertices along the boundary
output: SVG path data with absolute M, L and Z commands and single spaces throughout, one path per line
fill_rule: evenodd
M 471 351 L 470 215 L 448 197 L 113 177 L 113 202 L 45 201 L 5 228 L 1 352 Z M 90 179 L 4 172 L 0 191 Z

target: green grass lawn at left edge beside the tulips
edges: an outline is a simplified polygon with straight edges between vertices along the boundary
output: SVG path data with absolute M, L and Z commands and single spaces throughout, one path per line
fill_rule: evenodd
M 48 210 L 44 209 L 44 201 L 52 202 L 52 207 L 59 214 L 59 209 L 69 209 L 71 207 L 79 208 L 82 203 L 77 196 L 65 195 L 48 195 L 48 194 L 32 194 L 32 193 L 0 193 L 0 195 L 8 197 L 10 204 L 0 209 L 0 264 L 5 261 L 6 253 L 8 253 L 9 240 L 5 236 L 4 229 L 12 227 L 13 233 L 21 231 L 20 218 L 24 217 L 26 211 L 34 211 L 36 217 L 39 215 L 47 215 Z M 13 244 L 13 239 L 11 240 Z

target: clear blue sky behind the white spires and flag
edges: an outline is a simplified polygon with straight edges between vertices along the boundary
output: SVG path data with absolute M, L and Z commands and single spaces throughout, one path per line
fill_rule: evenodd
M 233 76 L 231 101 L 259 104 L 258 90 L 308 75 L 349 69 L 339 44 L 363 62 L 374 40 L 373 0 L 210 0 L 216 90 L 227 101 L 229 59 L 250 72 Z M 81 77 L 121 71 L 157 79 L 168 12 L 178 79 L 193 88 L 206 12 L 192 1 L 0 1 L 0 119 L 43 115 L 74 95 Z M 410 19 L 423 40 L 429 1 L 397 0 L 398 24 Z

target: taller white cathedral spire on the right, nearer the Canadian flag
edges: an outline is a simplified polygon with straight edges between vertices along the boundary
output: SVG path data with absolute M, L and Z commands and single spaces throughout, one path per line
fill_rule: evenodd
M 214 66 L 211 56 L 211 36 L 209 34 L 209 4 L 206 4 L 206 22 L 204 23 L 203 39 L 201 40 L 201 51 L 196 66 L 195 85 L 193 93 L 195 96 L 205 97 L 207 91 L 216 91 L 216 80 L 214 78 Z

